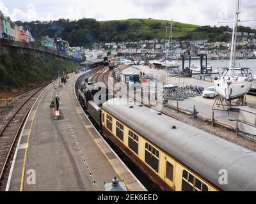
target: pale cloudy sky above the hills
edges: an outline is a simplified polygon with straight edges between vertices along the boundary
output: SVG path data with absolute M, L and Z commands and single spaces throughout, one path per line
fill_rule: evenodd
M 234 19 L 236 0 L 0 0 L 0 10 L 13 21 L 95 18 L 153 18 L 196 25 Z M 256 20 L 256 1 L 241 0 L 241 20 Z M 241 22 L 256 28 L 256 21 Z

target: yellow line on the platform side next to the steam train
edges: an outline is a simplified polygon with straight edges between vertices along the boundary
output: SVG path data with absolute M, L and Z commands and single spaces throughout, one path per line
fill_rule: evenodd
M 76 103 L 74 101 L 74 96 L 73 94 L 71 93 L 71 98 L 72 98 L 72 101 L 74 103 L 74 106 L 76 106 Z M 76 108 L 75 108 L 76 109 Z M 92 134 L 92 132 L 90 131 L 90 129 L 88 128 L 88 126 L 86 125 L 86 123 L 84 122 L 83 118 L 81 117 L 81 115 L 79 114 L 79 112 L 77 111 L 76 109 L 76 112 L 77 114 L 79 115 L 79 117 L 81 118 L 81 120 L 83 121 L 83 124 L 84 124 L 84 128 L 88 131 L 88 133 L 92 136 L 92 139 L 93 141 L 95 142 L 95 144 L 97 145 L 97 147 L 99 147 L 100 151 L 102 152 L 102 154 L 106 157 L 106 159 L 108 160 L 108 163 L 112 166 L 113 170 L 117 173 L 118 177 L 121 179 L 121 180 L 124 180 L 124 177 L 122 176 L 122 174 L 116 169 L 115 165 L 113 163 L 111 163 L 109 157 L 106 155 L 106 153 L 104 152 L 104 150 L 102 149 L 102 147 L 99 145 L 99 143 L 95 140 L 95 136 Z M 125 185 L 127 186 L 127 188 L 129 189 L 129 191 L 133 191 L 132 187 L 127 184 L 127 182 L 125 182 L 124 180 L 124 183 Z

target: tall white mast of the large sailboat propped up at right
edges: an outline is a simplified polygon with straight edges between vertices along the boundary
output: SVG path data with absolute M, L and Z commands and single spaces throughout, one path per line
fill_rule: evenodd
M 232 34 L 232 44 L 231 44 L 231 52 L 230 52 L 230 64 L 229 64 L 229 75 L 234 76 L 235 71 L 235 61 L 236 61 L 236 34 L 237 34 L 237 24 L 239 21 L 239 13 L 240 13 L 240 0 L 236 0 L 236 11 L 234 17 L 234 26 L 233 26 L 233 34 Z

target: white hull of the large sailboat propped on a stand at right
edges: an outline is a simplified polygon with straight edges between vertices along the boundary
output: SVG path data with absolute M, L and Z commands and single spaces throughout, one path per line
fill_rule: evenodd
M 227 82 L 216 80 L 214 81 L 216 91 L 225 99 L 234 99 L 239 96 L 244 96 L 252 89 L 252 82 L 239 82 L 230 85 Z

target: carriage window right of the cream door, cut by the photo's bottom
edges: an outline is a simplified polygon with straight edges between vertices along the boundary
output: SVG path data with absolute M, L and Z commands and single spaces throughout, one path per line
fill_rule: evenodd
M 196 179 L 191 173 L 183 170 L 182 191 L 209 191 L 209 188 L 200 180 Z

